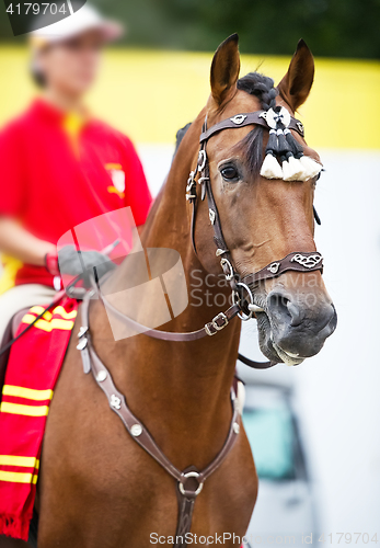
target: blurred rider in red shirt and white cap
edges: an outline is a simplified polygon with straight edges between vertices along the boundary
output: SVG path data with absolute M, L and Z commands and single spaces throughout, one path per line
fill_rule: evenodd
M 0 341 L 18 310 L 60 289 L 65 232 L 125 206 L 137 226 L 146 220 L 151 195 L 134 145 L 83 106 L 104 44 L 120 33 L 84 4 L 30 35 L 42 94 L 0 133 Z

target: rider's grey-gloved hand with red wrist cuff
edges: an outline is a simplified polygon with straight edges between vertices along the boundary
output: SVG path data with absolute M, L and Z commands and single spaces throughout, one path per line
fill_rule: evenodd
M 54 276 L 59 274 L 79 276 L 83 274 L 88 278 L 89 274 L 94 274 L 95 270 L 97 279 L 116 267 L 115 263 L 104 253 L 100 251 L 77 251 L 73 246 L 66 246 L 59 250 L 59 253 L 56 251 L 47 253 L 45 264 L 47 271 Z

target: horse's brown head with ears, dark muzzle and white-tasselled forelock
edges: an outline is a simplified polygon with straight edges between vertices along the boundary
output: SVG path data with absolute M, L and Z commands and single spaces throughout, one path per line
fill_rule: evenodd
M 238 36 L 232 35 L 212 59 L 197 165 L 200 185 L 194 182 L 195 172 L 188 185 L 188 202 L 197 203 L 194 244 L 206 271 L 218 274 L 221 262 L 232 277 L 234 298 L 246 313 L 247 305 L 255 310 L 265 356 L 296 365 L 320 352 L 337 321 L 314 243 L 313 196 L 321 160 L 295 119 L 310 93 L 314 61 L 300 41 L 276 88 L 257 72 L 239 79 L 239 71 Z M 252 113 L 260 123 L 249 123 Z M 275 129 L 269 133 L 270 127 Z M 211 206 L 205 199 L 207 184 Z M 251 275 L 262 271 L 267 275 L 261 279 Z

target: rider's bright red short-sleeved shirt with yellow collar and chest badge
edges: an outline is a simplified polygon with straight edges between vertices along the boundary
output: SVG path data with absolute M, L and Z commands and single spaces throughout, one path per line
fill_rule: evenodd
M 51 243 L 77 225 L 125 206 L 142 225 L 151 195 L 131 141 L 95 119 L 77 130 L 68 122 L 65 113 L 37 100 L 0 133 L 0 215 L 20 219 Z M 11 271 L 13 285 L 53 285 L 44 267 L 13 261 Z M 9 273 L 2 285 L 2 290 L 12 285 Z

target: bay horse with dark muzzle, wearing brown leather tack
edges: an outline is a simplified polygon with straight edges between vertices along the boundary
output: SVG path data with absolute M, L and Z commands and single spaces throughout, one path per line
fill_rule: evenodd
M 166 331 L 197 330 L 220 312 L 214 297 L 222 294 L 229 298 L 231 293 L 228 284 L 209 283 L 209 276 L 217 279 L 220 274 L 220 256 L 216 256 L 207 201 L 199 196 L 196 252 L 192 244 L 193 204 L 185 199 L 185 187 L 188 173 L 197 165 L 205 118 L 211 128 L 241 113 L 258 112 L 269 101 L 293 116 L 309 95 L 314 64 L 300 41 L 277 88 L 257 73 L 239 80 L 239 70 L 238 36 L 232 35 L 215 54 L 207 105 L 184 136 L 140 235 L 145 249 L 177 251 L 187 287 L 196 271 L 203 293 L 210 294 L 201 306 L 194 306 L 191 294 L 186 309 L 162 326 Z M 292 134 L 304 155 L 320 162 L 299 133 Z M 295 251 L 316 253 L 316 176 L 289 182 L 260 175 L 267 139 L 263 127 L 242 125 L 216 133 L 207 142 L 210 186 L 223 239 L 235 272 L 243 277 Z M 199 194 L 200 185 L 193 190 Z M 117 290 L 133 274 L 125 261 L 108 283 Z M 273 363 L 296 365 L 316 354 L 336 326 L 320 270 L 289 270 L 263 279 L 254 289 L 254 302 L 261 307 L 256 308 L 261 349 Z M 154 312 L 149 299 L 142 299 L 140 306 Z M 145 334 L 115 341 L 104 305 L 97 299 L 90 304 L 89 321 L 96 354 L 157 445 L 177 469 L 191 465 L 204 469 L 229 434 L 240 320 L 231 319 L 222 333 L 218 330 L 215 336 L 195 341 L 171 342 Z M 36 500 L 38 548 L 173 546 L 179 513 L 175 480 L 135 443 L 110 411 L 94 377 L 83 374 L 77 350 L 80 326 L 78 320 L 47 420 Z M 224 535 L 226 547 L 240 546 L 256 495 L 257 476 L 241 426 L 233 447 L 197 496 L 192 544 L 204 546 L 204 537 L 215 544 L 211 535 Z

